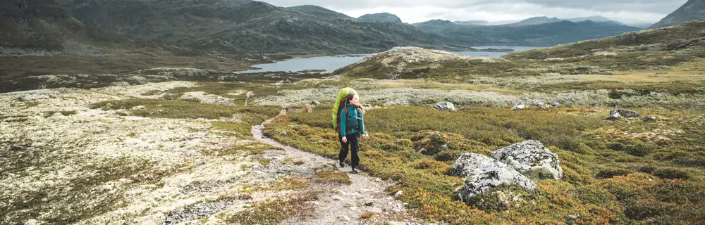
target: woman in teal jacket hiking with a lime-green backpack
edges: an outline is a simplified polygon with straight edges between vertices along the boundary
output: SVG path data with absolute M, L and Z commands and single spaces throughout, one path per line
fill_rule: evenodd
M 345 158 L 348 158 L 348 150 L 350 150 L 350 162 L 355 174 L 358 172 L 357 167 L 360 166 L 360 157 L 357 155 L 360 150 L 360 138 L 367 139 L 362 108 L 357 101 L 360 101 L 360 96 L 353 93 L 341 99 L 338 105 L 338 129 L 336 129 L 342 147 L 341 153 L 338 154 L 338 161 L 341 167 L 345 167 Z

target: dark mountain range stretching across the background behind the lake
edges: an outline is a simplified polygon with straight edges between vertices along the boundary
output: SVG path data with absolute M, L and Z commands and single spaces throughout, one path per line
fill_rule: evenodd
M 697 14 L 702 1 L 689 1 L 679 11 Z M 352 18 L 320 6 L 287 8 L 250 0 L 5 0 L 0 6 L 0 27 L 8 31 L 0 33 L 0 55 L 13 56 L 141 49 L 338 54 L 394 46 L 462 51 L 468 46 L 551 46 L 639 30 L 603 17 L 410 25 L 390 13 Z M 683 17 L 679 11 L 674 18 Z

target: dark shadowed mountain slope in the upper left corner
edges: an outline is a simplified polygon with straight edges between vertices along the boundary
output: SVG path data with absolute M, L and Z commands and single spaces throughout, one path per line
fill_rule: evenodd
M 0 55 L 102 55 L 149 46 L 84 25 L 54 0 L 0 2 Z

